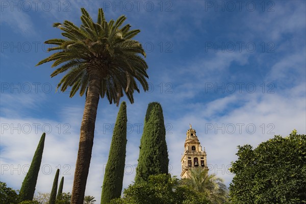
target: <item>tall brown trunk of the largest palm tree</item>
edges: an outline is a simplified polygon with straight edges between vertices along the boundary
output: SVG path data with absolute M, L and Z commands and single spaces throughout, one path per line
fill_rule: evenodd
M 70 201 L 71 204 L 83 204 L 84 201 L 93 145 L 95 120 L 100 97 L 100 73 L 98 69 L 94 69 L 94 67 L 92 67 L 92 69 L 89 70 L 89 74 L 89 88 L 81 124 L 80 143 L 77 163 L 75 164 L 74 180 Z

